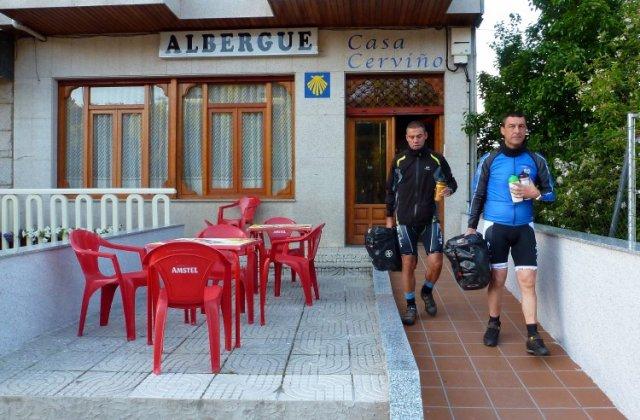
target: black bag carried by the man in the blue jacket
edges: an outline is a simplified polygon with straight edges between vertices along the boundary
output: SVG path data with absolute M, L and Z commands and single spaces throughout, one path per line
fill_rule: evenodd
M 491 262 L 482 234 L 454 236 L 446 242 L 444 255 L 451 262 L 453 275 L 462 290 L 487 287 L 491 280 Z

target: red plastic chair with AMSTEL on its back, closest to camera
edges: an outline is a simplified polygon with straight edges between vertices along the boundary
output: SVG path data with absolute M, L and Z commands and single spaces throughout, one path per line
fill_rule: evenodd
M 231 281 L 231 263 L 220 251 L 198 243 L 168 243 L 147 256 L 150 293 L 157 295 L 153 373 L 160 374 L 167 308 L 202 307 L 207 316 L 211 370 L 220 371 L 220 301 L 223 288 L 215 280 Z M 221 273 L 218 277 L 214 273 Z M 158 278 L 160 277 L 160 278 Z M 212 279 L 213 277 L 213 279 Z M 163 288 L 160 288 L 162 279 Z M 215 280 L 214 280 L 215 279 Z

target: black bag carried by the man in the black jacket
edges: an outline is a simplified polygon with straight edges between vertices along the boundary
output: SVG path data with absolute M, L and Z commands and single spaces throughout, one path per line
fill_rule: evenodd
M 370 227 L 364 235 L 364 245 L 376 270 L 402 270 L 396 228 Z

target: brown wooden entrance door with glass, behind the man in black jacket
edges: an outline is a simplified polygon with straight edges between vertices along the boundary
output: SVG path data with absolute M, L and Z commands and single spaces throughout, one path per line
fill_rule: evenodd
M 370 226 L 386 222 L 386 180 L 393 157 L 406 149 L 406 127 L 420 120 L 427 127 L 427 145 L 442 151 L 440 115 L 394 115 L 347 119 L 347 243 L 364 244 Z M 443 221 L 443 206 L 440 207 Z

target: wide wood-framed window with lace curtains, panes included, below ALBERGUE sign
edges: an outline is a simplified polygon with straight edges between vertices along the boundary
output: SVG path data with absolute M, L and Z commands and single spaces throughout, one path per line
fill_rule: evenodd
M 60 187 L 293 197 L 293 83 L 60 86 Z

